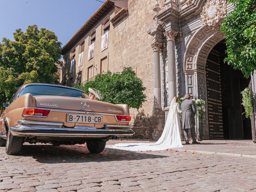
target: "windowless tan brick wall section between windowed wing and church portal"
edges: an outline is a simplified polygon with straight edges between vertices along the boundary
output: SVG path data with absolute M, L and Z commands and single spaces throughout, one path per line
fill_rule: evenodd
M 116 38 L 114 43 L 114 62 L 110 68 L 120 72 L 123 67 L 132 67 L 138 78 L 142 79 L 146 87 L 146 102 L 139 110 L 130 109 L 132 124 L 136 127 L 135 137 L 152 138 L 162 132 L 164 115 L 153 113 L 154 104 L 154 69 L 152 36 L 147 31 L 154 26 L 153 7 L 155 0 L 129 0 L 129 16 L 114 28 Z M 164 0 L 158 0 L 164 9 Z M 157 136 L 156 136 L 157 137 Z

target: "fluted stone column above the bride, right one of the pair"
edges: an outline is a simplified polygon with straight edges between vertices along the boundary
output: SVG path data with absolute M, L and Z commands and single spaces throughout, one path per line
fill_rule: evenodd
M 168 58 L 168 105 L 176 93 L 176 62 L 175 62 L 175 36 L 178 32 L 170 30 L 164 33 L 167 38 L 167 58 Z

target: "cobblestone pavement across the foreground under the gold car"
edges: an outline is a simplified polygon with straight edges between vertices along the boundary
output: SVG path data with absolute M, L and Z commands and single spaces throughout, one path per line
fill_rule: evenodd
M 84 145 L 26 144 L 8 156 L 1 147 L 0 192 L 256 191 L 255 159 L 184 150 L 90 154 Z

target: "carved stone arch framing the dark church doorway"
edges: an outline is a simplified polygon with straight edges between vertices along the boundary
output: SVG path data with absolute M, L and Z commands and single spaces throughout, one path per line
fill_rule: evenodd
M 220 24 L 216 26 L 202 26 L 194 32 L 186 44 L 187 49 L 183 66 L 185 82 L 183 92 L 193 96 L 200 96 L 205 100 L 206 104 L 208 103 L 206 60 L 212 48 L 224 38 L 224 34 L 220 32 Z M 199 129 L 202 130 L 200 138 L 209 139 L 208 105 L 206 105 L 206 114 L 202 124 L 199 122 L 197 124 Z

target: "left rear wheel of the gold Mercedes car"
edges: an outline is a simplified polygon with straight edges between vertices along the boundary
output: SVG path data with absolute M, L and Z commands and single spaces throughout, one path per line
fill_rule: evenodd
M 5 152 L 8 155 L 19 154 L 24 143 L 24 137 L 13 136 L 8 129 Z

